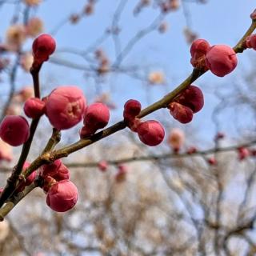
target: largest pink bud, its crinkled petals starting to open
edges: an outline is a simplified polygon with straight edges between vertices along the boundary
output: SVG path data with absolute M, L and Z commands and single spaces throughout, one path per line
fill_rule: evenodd
M 86 98 L 76 86 L 59 86 L 46 98 L 46 115 L 58 130 L 69 129 L 82 120 Z

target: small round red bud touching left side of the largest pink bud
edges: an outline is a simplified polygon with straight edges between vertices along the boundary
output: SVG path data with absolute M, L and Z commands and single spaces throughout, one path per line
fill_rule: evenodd
M 40 118 L 45 112 L 46 103 L 40 98 L 29 98 L 24 105 L 24 112 L 28 118 Z

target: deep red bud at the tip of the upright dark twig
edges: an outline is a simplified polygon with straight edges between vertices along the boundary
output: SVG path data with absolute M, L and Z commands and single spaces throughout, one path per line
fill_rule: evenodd
M 32 50 L 34 61 L 38 63 L 46 62 L 49 56 L 54 53 L 56 43 L 50 34 L 41 34 L 34 39 Z

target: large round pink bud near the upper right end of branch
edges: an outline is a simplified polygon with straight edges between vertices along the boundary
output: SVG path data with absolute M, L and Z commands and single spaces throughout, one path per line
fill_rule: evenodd
M 206 54 L 206 66 L 218 77 L 230 74 L 237 64 L 238 58 L 230 46 L 212 46 Z

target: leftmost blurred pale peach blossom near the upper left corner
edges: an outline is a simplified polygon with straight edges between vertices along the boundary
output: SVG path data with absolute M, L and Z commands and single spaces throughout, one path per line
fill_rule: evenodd
M 6 42 L 7 44 L 14 46 L 16 50 L 26 40 L 26 30 L 22 25 L 12 25 L 6 31 Z

